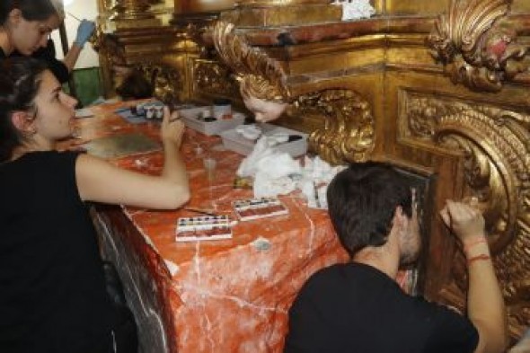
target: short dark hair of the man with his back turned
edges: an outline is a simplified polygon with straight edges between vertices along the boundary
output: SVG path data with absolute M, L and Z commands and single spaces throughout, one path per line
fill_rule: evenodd
M 386 243 L 396 207 L 412 216 L 411 187 L 388 163 L 350 164 L 333 178 L 327 197 L 331 223 L 352 257 Z

